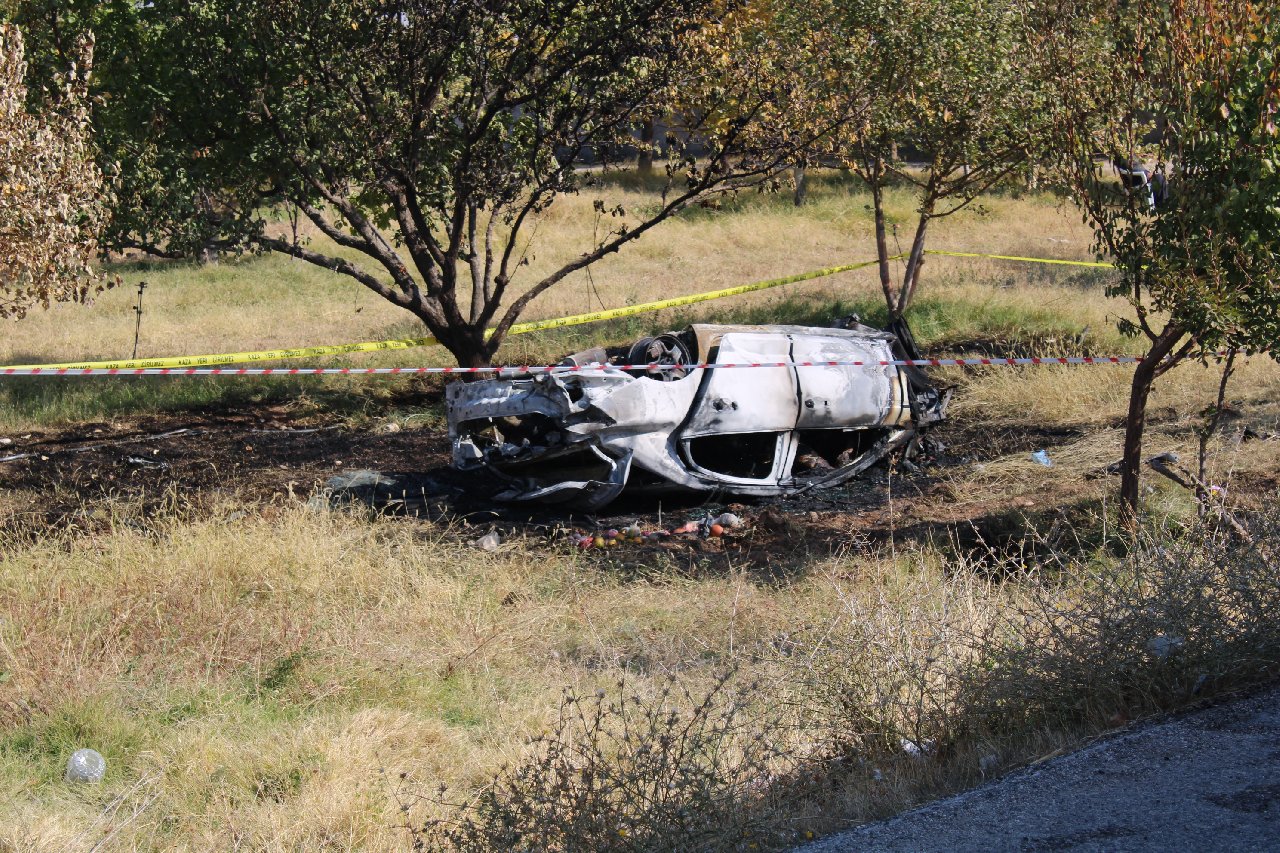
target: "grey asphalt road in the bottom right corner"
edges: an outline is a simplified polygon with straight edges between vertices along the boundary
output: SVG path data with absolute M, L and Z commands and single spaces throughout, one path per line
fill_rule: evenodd
M 1280 850 L 1280 688 L 800 848 L 852 850 Z

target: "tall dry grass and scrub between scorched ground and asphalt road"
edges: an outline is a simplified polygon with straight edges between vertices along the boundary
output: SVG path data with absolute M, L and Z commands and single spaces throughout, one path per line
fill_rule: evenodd
M 0 845 L 777 848 L 1280 662 L 1274 571 L 1217 529 L 854 538 L 762 584 L 241 511 L 5 544 Z

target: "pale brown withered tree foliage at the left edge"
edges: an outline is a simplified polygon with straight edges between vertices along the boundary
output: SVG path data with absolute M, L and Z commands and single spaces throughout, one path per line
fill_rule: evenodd
M 91 266 L 105 220 L 102 174 L 88 126 L 92 38 L 56 78 L 54 99 L 28 105 L 22 33 L 0 24 L 0 316 L 83 301 L 101 289 Z

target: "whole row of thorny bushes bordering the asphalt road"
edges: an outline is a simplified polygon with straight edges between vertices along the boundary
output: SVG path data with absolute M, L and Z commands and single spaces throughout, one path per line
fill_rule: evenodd
M 1274 676 L 1280 516 L 1251 526 L 1262 548 L 1170 525 L 1120 558 L 1039 547 L 995 573 L 922 551 L 768 661 L 782 686 L 724 675 L 700 694 L 567 694 L 470 803 L 417 798 L 447 817 L 411 835 L 419 849 L 782 849 L 1039 757 L 1053 736 Z

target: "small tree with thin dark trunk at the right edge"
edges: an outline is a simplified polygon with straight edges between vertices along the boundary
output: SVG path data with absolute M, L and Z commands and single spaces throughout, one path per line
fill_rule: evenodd
M 1097 250 L 1120 272 L 1108 292 L 1133 309 L 1121 328 L 1147 341 L 1125 421 L 1132 525 L 1155 380 L 1187 359 L 1280 345 L 1280 20 L 1244 0 L 1110 3 L 1094 20 L 1080 36 L 1110 64 L 1073 73 L 1084 42 L 1055 46 L 1073 83 L 1061 150 Z M 1146 192 L 1108 179 L 1098 155 L 1144 160 L 1167 179 L 1169 201 L 1152 209 Z

